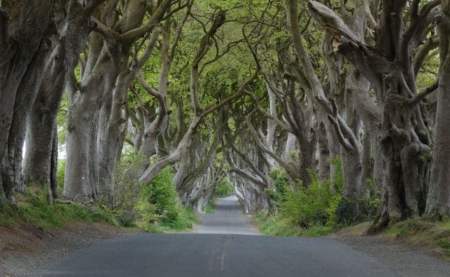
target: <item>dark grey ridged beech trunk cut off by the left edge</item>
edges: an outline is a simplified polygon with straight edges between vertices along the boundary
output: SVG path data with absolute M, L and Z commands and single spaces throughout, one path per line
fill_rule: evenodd
M 0 172 L 1 198 L 15 202 L 24 125 L 36 96 L 52 33 L 52 1 L 7 1 L 0 8 Z

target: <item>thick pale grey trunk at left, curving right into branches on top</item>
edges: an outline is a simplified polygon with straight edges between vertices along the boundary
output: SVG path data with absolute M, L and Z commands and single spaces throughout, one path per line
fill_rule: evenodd
M 92 18 L 96 31 L 90 37 L 90 52 L 80 85 L 69 87 L 67 114 L 67 163 L 64 175 L 64 196 L 77 201 L 96 198 L 99 190 L 97 167 L 97 134 L 99 111 L 120 74 L 120 68 L 129 59 L 132 43 L 145 33 L 153 31 L 171 1 L 164 0 L 150 20 L 143 26 L 146 3 L 127 1 L 120 20 L 116 23 L 113 6 L 104 6 L 102 13 Z M 111 29 L 112 28 L 112 29 Z

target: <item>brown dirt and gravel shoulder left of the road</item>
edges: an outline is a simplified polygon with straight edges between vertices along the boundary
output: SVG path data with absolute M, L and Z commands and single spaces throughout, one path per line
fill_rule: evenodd
M 51 231 L 32 226 L 0 226 L 0 276 L 39 276 L 55 257 L 63 257 L 101 239 L 129 233 L 99 223 L 66 223 Z

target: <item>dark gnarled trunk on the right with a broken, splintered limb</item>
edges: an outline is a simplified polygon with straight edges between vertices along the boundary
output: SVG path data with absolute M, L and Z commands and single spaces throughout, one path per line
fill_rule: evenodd
M 378 143 L 386 174 L 373 231 L 421 212 L 430 133 L 424 119 L 426 114 L 418 105 L 423 94 L 416 92 L 411 53 L 425 36 L 428 15 L 440 1 L 430 1 L 420 9 L 419 3 L 412 3 L 411 23 L 405 27 L 406 3 L 382 1 L 376 45 L 369 46 L 332 10 L 309 1 L 310 12 L 342 43 L 339 52 L 370 80 L 381 105 L 383 120 Z

